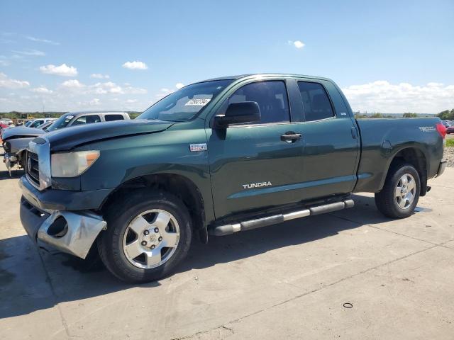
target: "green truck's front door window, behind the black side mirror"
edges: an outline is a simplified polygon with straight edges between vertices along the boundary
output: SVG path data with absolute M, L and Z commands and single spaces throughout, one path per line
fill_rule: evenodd
M 228 103 L 256 101 L 260 106 L 260 123 L 289 122 L 289 101 L 284 81 L 258 81 L 241 87 Z

